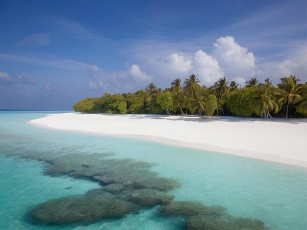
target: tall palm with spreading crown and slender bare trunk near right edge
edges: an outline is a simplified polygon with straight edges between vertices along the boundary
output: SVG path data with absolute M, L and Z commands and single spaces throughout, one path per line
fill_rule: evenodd
M 291 75 L 288 78 L 281 78 L 281 83 L 277 84 L 278 88 L 282 90 L 281 95 L 278 96 L 278 102 L 281 105 L 287 103 L 286 118 L 288 118 L 289 104 L 295 104 L 302 100 L 300 94 L 303 94 L 304 92 L 304 85 L 297 85 L 298 81 L 300 81 L 300 79 Z

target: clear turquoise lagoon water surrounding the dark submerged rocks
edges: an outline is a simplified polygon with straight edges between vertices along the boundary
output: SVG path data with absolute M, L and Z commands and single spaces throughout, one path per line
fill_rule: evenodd
M 41 229 L 27 221 L 37 204 L 100 187 L 86 180 L 43 174 L 47 163 L 28 156 L 114 153 L 154 163 L 152 170 L 182 184 L 175 200 L 226 207 L 233 216 L 260 219 L 271 229 L 307 229 L 305 168 L 174 147 L 150 141 L 47 130 L 26 122 L 51 112 L 0 111 L 0 229 Z M 54 113 L 54 112 L 52 112 Z M 205 132 L 205 131 L 204 131 Z M 25 158 L 26 156 L 26 158 Z M 180 229 L 180 218 L 164 218 L 157 207 L 118 220 L 44 229 Z

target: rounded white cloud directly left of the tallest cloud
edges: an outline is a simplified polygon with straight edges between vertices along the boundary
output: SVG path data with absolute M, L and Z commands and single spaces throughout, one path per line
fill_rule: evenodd
M 224 76 L 224 72 L 216 59 L 203 50 L 198 50 L 194 54 L 192 66 L 192 72 L 198 74 L 199 79 L 205 85 L 212 85 Z

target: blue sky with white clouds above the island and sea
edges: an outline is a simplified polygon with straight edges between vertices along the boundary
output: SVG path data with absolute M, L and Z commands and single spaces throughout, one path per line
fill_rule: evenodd
M 307 81 L 306 0 L 0 0 L 0 109 L 71 110 L 85 97 L 198 74 Z

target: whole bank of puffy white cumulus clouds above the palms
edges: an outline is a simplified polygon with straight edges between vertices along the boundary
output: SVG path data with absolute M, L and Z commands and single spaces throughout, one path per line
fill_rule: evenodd
M 233 37 L 221 37 L 212 46 L 212 52 L 202 49 L 194 53 L 172 52 L 167 54 L 164 49 L 160 54 L 142 56 L 145 70 L 153 76 L 153 81 L 163 87 L 166 81 L 174 78 L 187 78 L 190 74 L 197 74 L 202 84 L 210 86 L 219 78 L 237 79 L 240 85 L 245 79 L 255 76 L 255 56 L 248 49 L 235 42 Z M 135 67 L 140 76 L 140 70 Z M 131 74 L 132 75 L 132 74 Z

